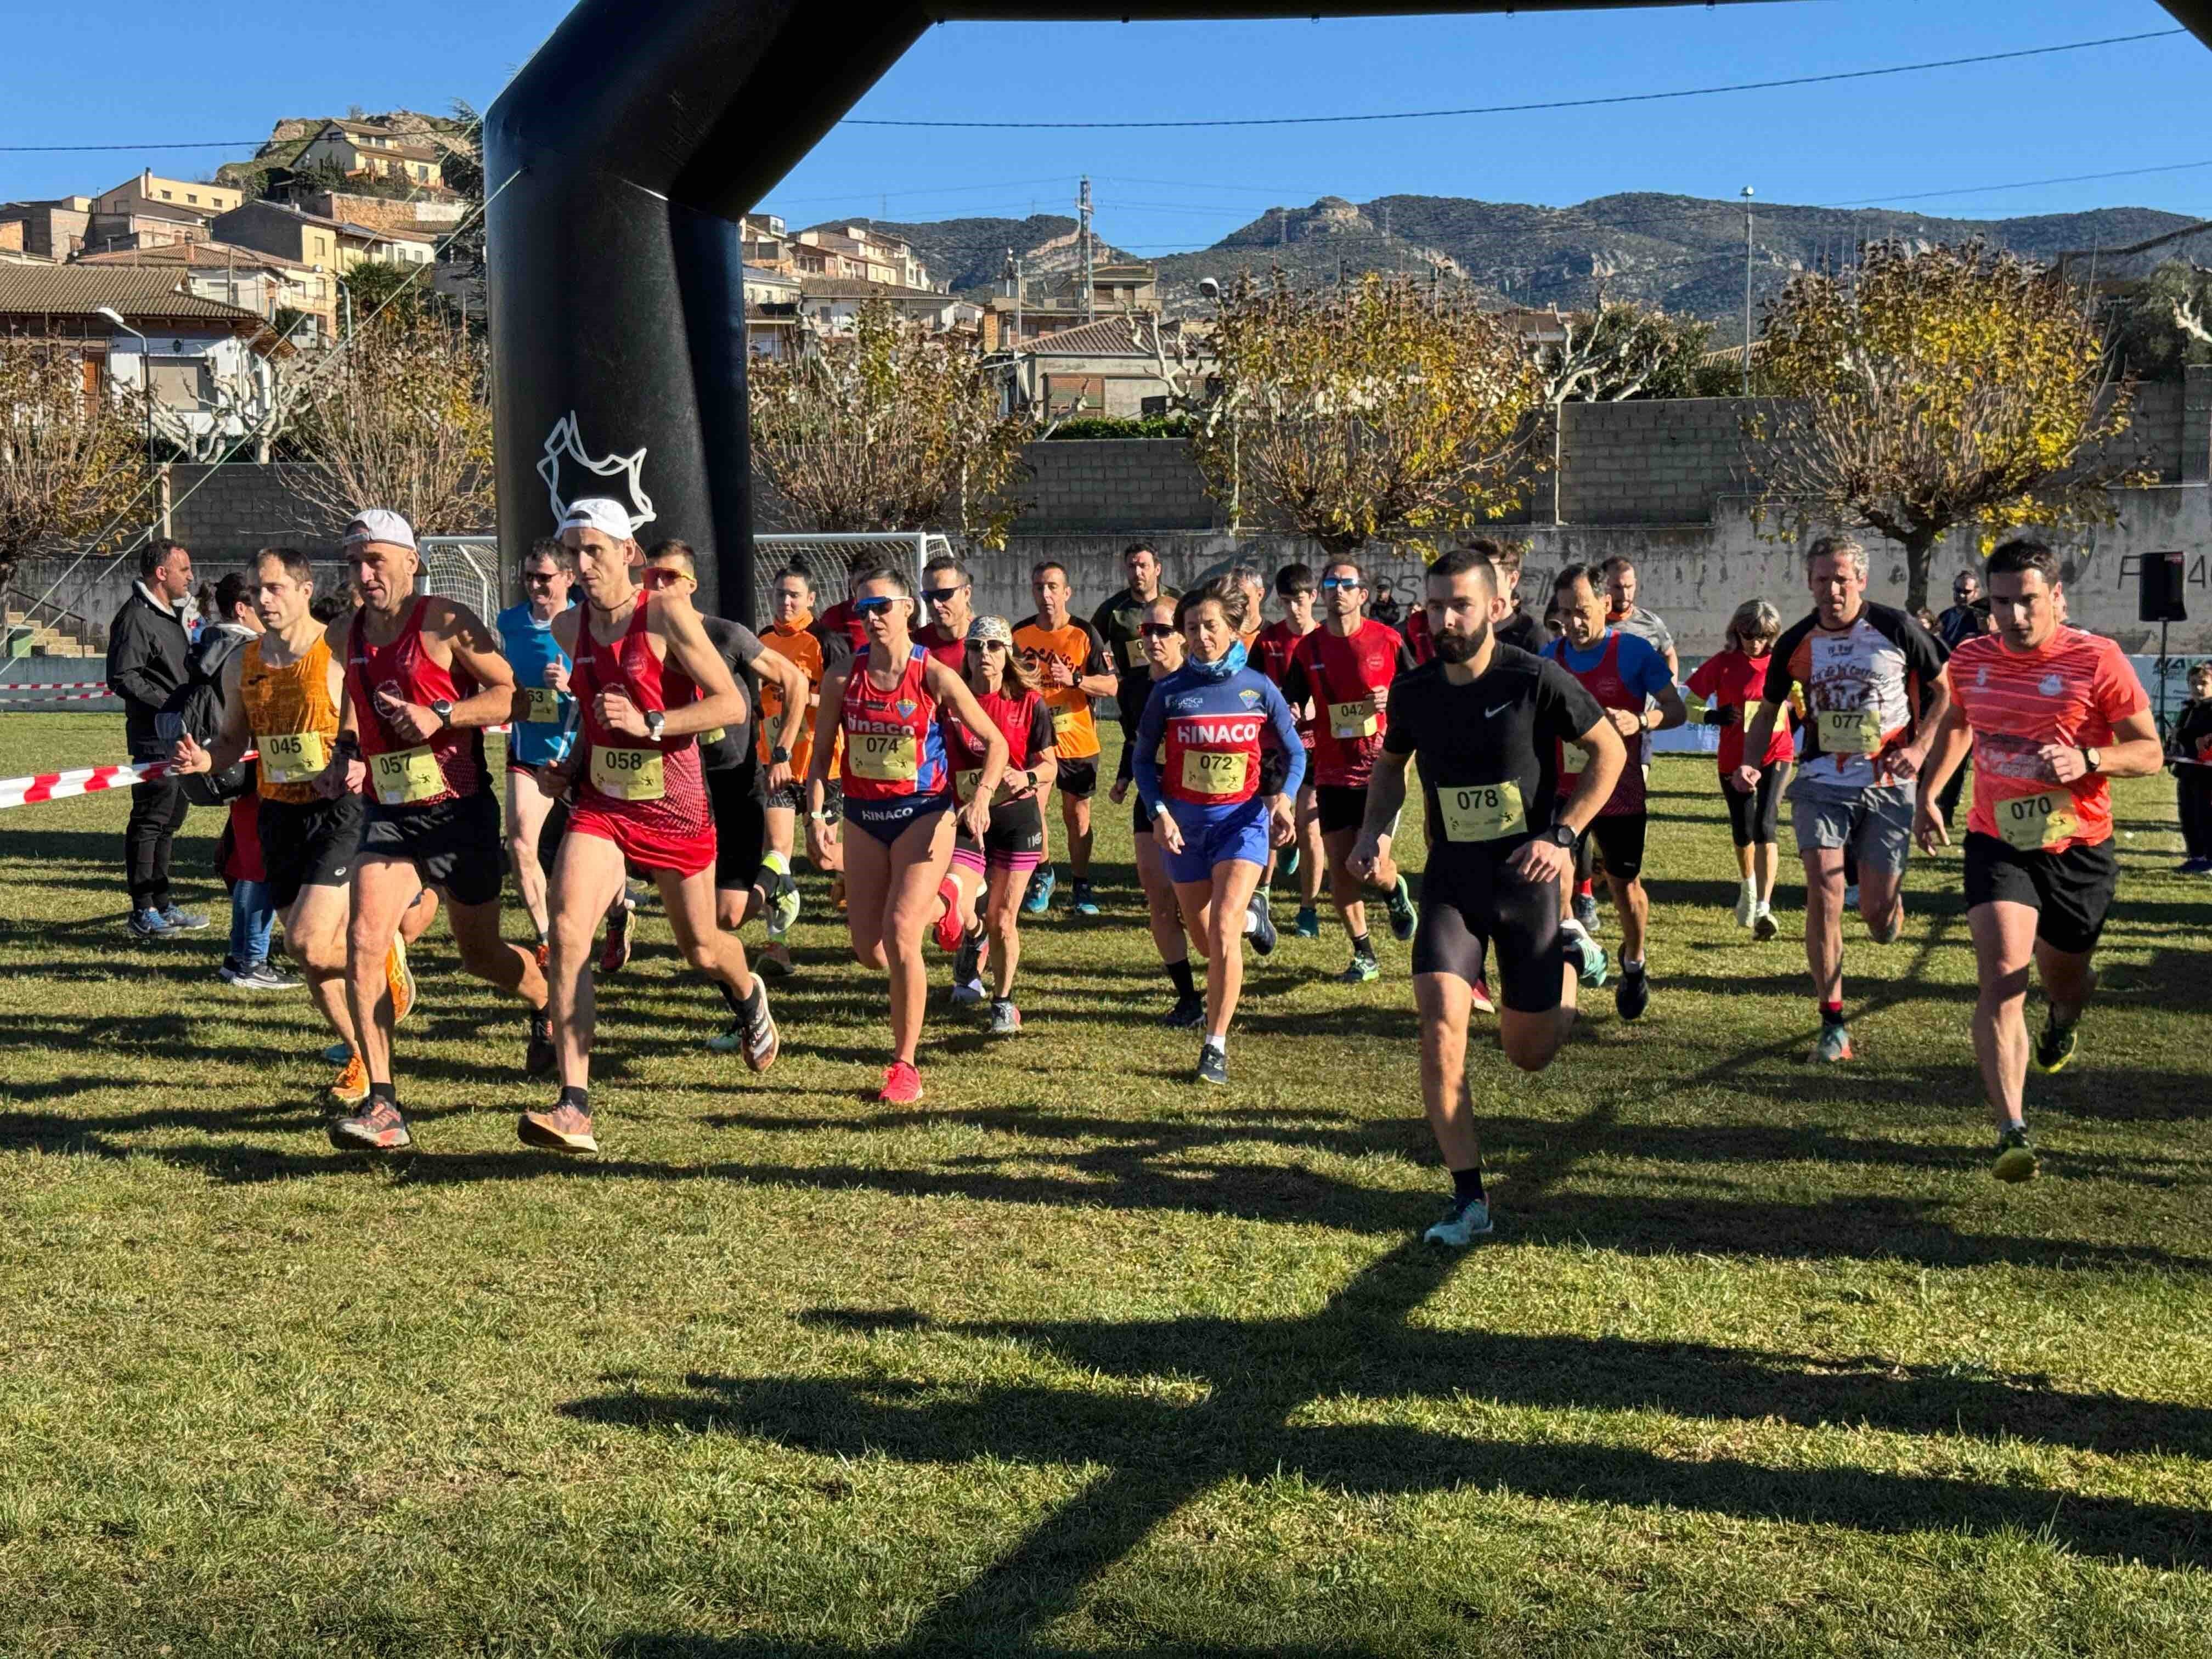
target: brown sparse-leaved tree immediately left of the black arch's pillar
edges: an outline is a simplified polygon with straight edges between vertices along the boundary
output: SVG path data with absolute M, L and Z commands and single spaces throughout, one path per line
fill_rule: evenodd
M 301 389 L 292 440 L 299 518 L 394 507 L 418 533 L 467 535 L 498 518 L 484 343 L 429 312 L 383 314 Z

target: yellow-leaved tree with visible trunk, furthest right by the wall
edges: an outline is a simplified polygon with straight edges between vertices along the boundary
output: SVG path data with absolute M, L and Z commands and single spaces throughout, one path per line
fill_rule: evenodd
M 1783 403 L 1745 422 L 1756 515 L 1898 542 L 1907 611 L 1927 604 L 1951 526 L 1995 542 L 2101 524 L 2108 491 L 2146 482 L 2097 453 L 2128 429 L 2135 387 L 2084 299 L 1980 241 L 1876 243 L 1849 281 L 1794 276 L 1767 310 L 1761 372 Z

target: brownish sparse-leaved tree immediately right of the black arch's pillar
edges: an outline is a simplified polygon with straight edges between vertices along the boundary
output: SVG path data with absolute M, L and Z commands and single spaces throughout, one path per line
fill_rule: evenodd
M 849 334 L 810 330 L 794 361 L 754 363 L 748 400 L 754 465 L 781 498 L 768 511 L 787 529 L 942 524 L 1004 544 L 1037 429 L 975 341 L 867 301 Z

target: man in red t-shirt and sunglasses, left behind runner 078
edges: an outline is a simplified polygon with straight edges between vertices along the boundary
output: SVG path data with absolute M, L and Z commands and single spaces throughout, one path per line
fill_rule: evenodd
M 1367 938 L 1367 902 L 1349 858 L 1367 823 L 1367 779 L 1389 730 L 1389 684 L 1413 668 L 1413 655 L 1405 635 L 1367 615 L 1367 573 L 1358 560 L 1321 566 L 1321 626 L 1290 653 L 1283 697 L 1292 706 L 1314 703 L 1314 807 L 1329 856 L 1329 896 L 1352 936 L 1352 964 L 1338 978 L 1365 984 L 1383 969 Z M 1389 931 L 1413 938 L 1413 894 L 1398 865 L 1380 860 L 1374 885 L 1389 894 Z

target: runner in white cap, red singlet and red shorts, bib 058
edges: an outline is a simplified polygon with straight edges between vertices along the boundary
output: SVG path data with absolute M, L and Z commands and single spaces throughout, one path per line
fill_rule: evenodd
M 524 1146 L 597 1152 L 591 1133 L 595 1024 L 591 945 L 622 894 L 626 865 L 650 872 L 684 958 L 714 980 L 737 1020 L 745 1064 L 776 1062 L 768 987 L 745 947 L 714 920 L 714 810 L 699 765 L 699 732 L 743 726 L 745 695 L 675 584 L 637 584 L 644 549 L 619 502 L 573 502 L 560 526 L 584 604 L 553 619 L 568 653 L 582 732 L 562 763 L 575 790 L 568 834 L 553 865 L 553 1046 L 560 1099 L 522 1113 Z

